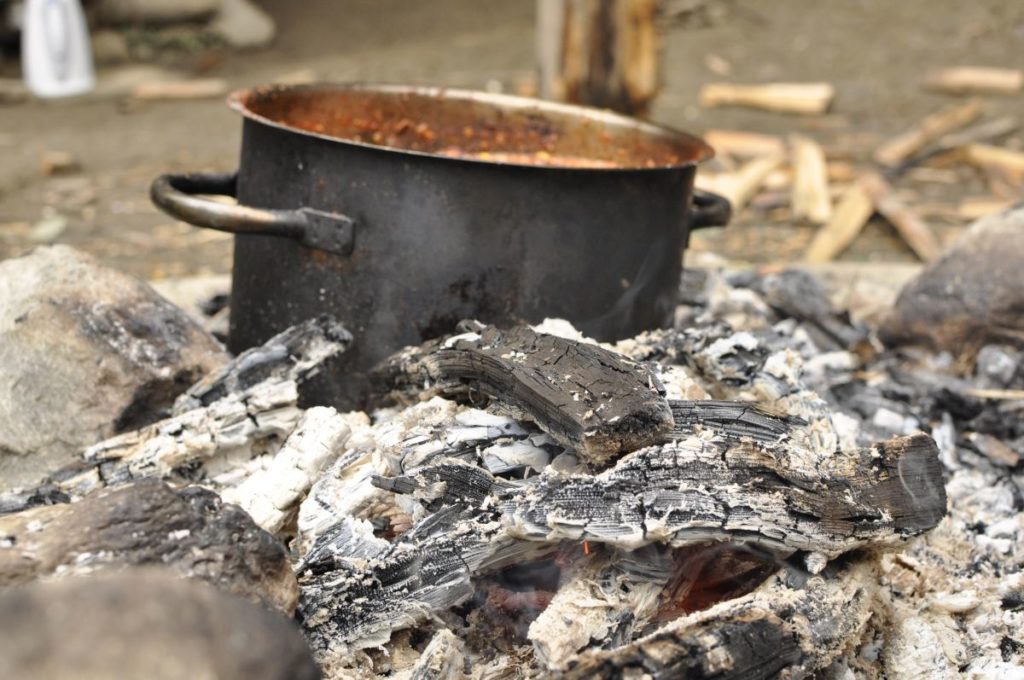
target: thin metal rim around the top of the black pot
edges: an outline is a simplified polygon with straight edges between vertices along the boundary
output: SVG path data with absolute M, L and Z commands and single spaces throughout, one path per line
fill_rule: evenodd
M 311 130 L 305 130 L 281 121 L 276 121 L 272 118 L 262 116 L 257 114 L 249 107 L 249 102 L 255 98 L 266 97 L 269 95 L 276 94 L 287 94 L 294 92 L 311 92 L 311 91 L 367 91 L 367 92 L 379 92 L 383 94 L 415 94 L 421 96 L 431 96 L 431 97 L 444 97 L 447 99 L 466 100 L 474 102 L 483 102 L 498 107 L 500 109 L 515 111 L 515 110 L 532 110 L 544 113 L 560 114 L 563 116 L 571 116 L 580 119 L 590 120 L 597 123 L 602 123 L 605 125 L 613 127 L 623 127 L 637 130 L 644 134 L 650 135 L 651 137 L 662 137 L 667 141 L 674 143 L 683 143 L 688 145 L 693 150 L 691 158 L 678 163 L 666 164 L 666 165 L 655 165 L 655 166 L 640 166 L 640 165 L 624 165 L 617 167 L 575 167 L 575 166 L 559 166 L 559 165 L 542 165 L 542 164 L 530 164 L 530 163 L 519 163 L 512 161 L 501 161 L 494 159 L 478 159 L 470 156 L 465 157 L 453 157 L 445 156 L 443 154 L 436 154 L 431 152 L 417 151 L 411 148 L 403 148 L 401 146 L 390 146 L 387 144 L 375 144 L 372 142 L 361 141 L 357 139 L 351 139 L 347 137 L 335 136 L 331 134 L 325 134 L 321 132 L 314 132 Z M 679 170 L 683 168 L 695 167 L 697 164 L 705 161 L 709 161 L 715 157 L 715 150 L 703 139 L 686 132 L 682 132 L 675 128 L 658 125 L 655 123 L 649 123 L 647 121 L 641 121 L 630 116 L 625 116 L 623 114 L 617 114 L 606 109 L 597 109 L 595 107 L 585 107 L 580 104 L 562 103 L 557 101 L 548 101 L 545 99 L 537 99 L 534 97 L 524 97 L 513 94 L 499 94 L 494 92 L 484 92 L 479 90 L 468 90 L 455 87 L 439 87 L 431 85 L 399 85 L 399 84 L 379 84 L 379 83 L 309 83 L 303 85 L 258 85 L 251 88 L 243 88 L 234 90 L 227 95 L 227 104 L 233 111 L 240 113 L 243 117 L 258 122 L 269 127 L 276 128 L 279 130 L 284 130 L 287 132 L 292 132 L 295 134 L 305 135 L 309 137 L 316 137 L 327 141 L 341 143 L 341 144 L 351 144 L 353 146 L 361 146 L 365 148 L 373 148 L 377 151 L 386 151 L 390 153 L 396 153 L 401 155 L 414 156 L 414 157 L 426 157 L 431 159 L 439 159 L 443 161 L 450 161 L 453 163 L 475 163 L 487 166 L 502 166 L 502 167 L 518 167 L 518 168 L 530 168 L 534 170 L 557 170 L 557 171 L 573 171 L 573 172 L 658 172 L 666 170 Z

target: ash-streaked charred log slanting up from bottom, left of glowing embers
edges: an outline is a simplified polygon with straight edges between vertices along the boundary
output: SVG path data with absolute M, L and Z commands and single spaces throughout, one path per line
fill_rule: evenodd
M 386 546 L 366 532 L 364 522 L 324 533 L 298 566 L 299 618 L 322 663 L 467 600 L 475 575 L 551 551 L 505 536 L 494 510 L 458 503 Z

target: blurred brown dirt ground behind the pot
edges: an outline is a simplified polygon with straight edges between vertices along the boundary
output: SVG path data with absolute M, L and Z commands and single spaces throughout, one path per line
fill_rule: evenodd
M 278 20 L 267 50 L 185 58 L 203 76 L 243 87 L 296 73 L 331 81 L 384 81 L 516 92 L 534 71 L 534 0 L 263 0 Z M 652 118 L 702 133 L 730 128 L 818 139 L 831 158 L 867 159 L 885 137 L 948 105 L 921 87 L 931 69 L 1021 67 L 1020 0 L 675 0 L 664 27 L 665 88 Z M 692 8 L 696 9 L 692 9 Z M 727 74 L 714 73 L 709 65 Z M 101 83 L 136 67 L 100 73 Z M 16 65 L 0 67 L 16 76 Z M 189 73 L 195 72 L 195 69 Z M 740 109 L 703 110 L 707 82 L 828 81 L 838 96 L 823 117 Z M 102 88 L 100 88 L 102 90 Z M 108 88 L 108 91 L 110 88 Z M 987 97 L 991 115 L 1019 114 L 1024 97 Z M 39 243 L 82 248 L 133 273 L 160 279 L 229 268 L 230 237 L 176 223 L 153 208 L 150 181 L 168 171 L 230 170 L 240 121 L 220 99 L 128 102 L 101 92 L 61 102 L 0 102 L 0 257 Z M 1005 140 L 1020 146 L 1024 137 Z M 47 176 L 48 152 L 68 152 L 81 169 Z M 907 179 L 901 190 L 951 203 L 984 194 L 977 177 Z M 951 239 L 965 222 L 935 219 Z M 799 258 L 813 227 L 746 217 L 701 233 L 694 250 L 731 259 Z M 843 256 L 908 261 L 891 227 L 872 222 Z

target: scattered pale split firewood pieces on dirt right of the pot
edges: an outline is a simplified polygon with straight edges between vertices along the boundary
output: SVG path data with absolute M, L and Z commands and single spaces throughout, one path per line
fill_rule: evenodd
M 928 74 L 923 85 L 950 95 L 1016 96 L 1024 91 L 1024 71 L 954 68 Z M 826 114 L 836 94 L 828 83 L 711 83 L 700 103 L 812 121 Z M 734 222 L 813 226 L 803 249 L 810 262 L 835 259 L 874 215 L 919 259 L 931 262 L 943 246 L 945 229 L 937 227 L 963 226 L 1024 198 L 1024 140 L 1014 137 L 1020 121 L 987 115 L 980 98 L 940 108 L 876 142 L 866 156 L 843 143 L 842 118 L 835 122 L 830 143 L 809 134 L 708 130 L 718 170 L 701 171 L 697 185 L 728 198 Z

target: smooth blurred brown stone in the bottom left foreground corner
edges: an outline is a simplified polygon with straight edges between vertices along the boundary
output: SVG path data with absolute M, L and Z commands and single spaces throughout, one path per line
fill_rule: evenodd
M 0 591 L 0 677 L 315 680 L 278 612 L 159 567 Z

